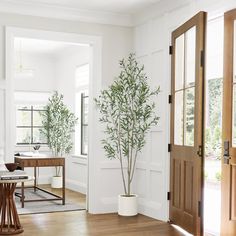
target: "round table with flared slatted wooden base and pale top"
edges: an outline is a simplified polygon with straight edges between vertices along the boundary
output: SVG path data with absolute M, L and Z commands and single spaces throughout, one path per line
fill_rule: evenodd
M 33 178 L 0 180 L 0 235 L 19 234 L 24 231 L 16 210 L 14 191 L 17 183 L 30 180 Z

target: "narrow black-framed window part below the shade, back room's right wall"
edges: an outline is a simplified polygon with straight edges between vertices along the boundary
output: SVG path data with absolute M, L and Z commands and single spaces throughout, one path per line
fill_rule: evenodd
M 88 154 L 88 96 L 81 93 L 81 154 Z

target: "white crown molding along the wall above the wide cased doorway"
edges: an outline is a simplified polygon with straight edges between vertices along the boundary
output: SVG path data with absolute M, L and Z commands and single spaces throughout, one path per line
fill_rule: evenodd
M 32 3 L 27 0 L 1 0 L 0 11 L 88 23 L 133 26 L 132 16 L 129 14 L 83 10 L 48 3 Z

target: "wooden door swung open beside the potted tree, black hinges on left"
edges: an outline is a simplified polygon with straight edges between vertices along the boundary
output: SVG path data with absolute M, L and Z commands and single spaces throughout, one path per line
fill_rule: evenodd
M 202 232 L 206 13 L 172 33 L 170 222 Z

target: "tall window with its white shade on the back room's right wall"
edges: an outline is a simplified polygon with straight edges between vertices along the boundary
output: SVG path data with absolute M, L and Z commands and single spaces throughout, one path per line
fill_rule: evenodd
M 88 155 L 88 85 L 89 64 L 78 66 L 75 71 L 75 113 L 79 123 L 75 127 L 75 154 Z

